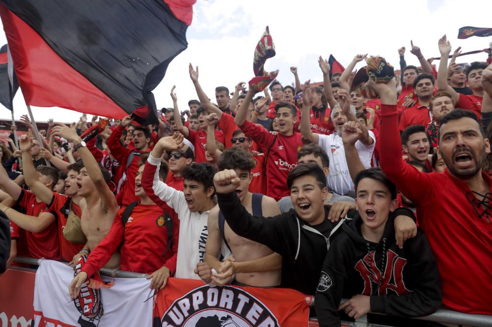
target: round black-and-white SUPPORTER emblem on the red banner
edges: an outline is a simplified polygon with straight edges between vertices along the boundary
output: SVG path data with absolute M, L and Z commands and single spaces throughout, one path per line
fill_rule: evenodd
M 161 319 L 175 327 L 278 327 L 277 318 L 260 300 L 241 288 L 204 285 L 175 300 Z

